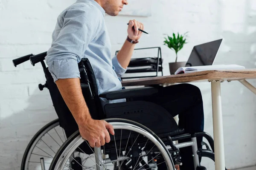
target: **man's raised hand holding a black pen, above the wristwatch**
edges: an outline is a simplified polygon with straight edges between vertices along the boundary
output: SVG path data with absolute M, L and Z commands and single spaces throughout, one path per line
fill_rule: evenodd
M 144 30 L 144 25 L 136 20 L 130 20 L 128 25 L 128 37 L 131 40 L 139 40 L 142 32 L 139 31 L 139 28 L 141 30 Z

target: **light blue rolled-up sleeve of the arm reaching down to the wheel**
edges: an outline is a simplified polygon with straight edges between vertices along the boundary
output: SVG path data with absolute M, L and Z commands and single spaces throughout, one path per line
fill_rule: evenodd
M 81 8 L 69 9 L 58 19 L 60 31 L 52 40 L 45 58 L 54 82 L 58 79 L 80 78 L 78 63 L 94 35 L 93 21 L 90 20 L 92 17 L 87 15 L 91 15 L 90 12 Z

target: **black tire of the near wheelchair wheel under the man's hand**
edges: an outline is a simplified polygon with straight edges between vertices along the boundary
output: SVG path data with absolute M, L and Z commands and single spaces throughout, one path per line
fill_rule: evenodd
M 143 128 L 144 130 L 146 130 L 148 133 L 150 133 L 152 136 L 154 136 L 158 142 L 160 142 L 160 144 L 162 144 L 162 146 L 164 146 L 165 150 L 167 153 L 169 153 L 169 150 L 166 149 L 165 147 L 165 144 L 162 142 L 162 140 L 150 129 L 148 129 L 148 127 L 145 127 L 144 125 L 141 125 L 137 122 L 134 122 L 134 121 L 131 121 L 131 120 L 127 120 L 127 119 L 104 119 L 106 122 L 123 122 L 123 123 L 129 123 L 129 124 L 132 124 L 132 125 L 136 125 L 138 127 L 141 127 Z M 52 160 L 52 163 L 49 167 L 49 170 L 54 170 L 54 167 L 56 166 L 57 164 L 57 161 L 58 159 L 60 158 L 61 156 L 61 153 L 66 149 L 66 147 L 71 143 L 73 142 L 73 140 L 79 136 L 80 133 L 79 133 L 79 130 L 77 130 L 75 133 L 73 133 L 73 135 L 71 135 L 67 140 L 66 142 L 64 142 L 64 144 L 62 144 L 62 146 L 60 147 L 60 149 L 58 150 L 58 152 L 56 153 L 56 155 L 54 156 L 53 160 Z M 172 157 L 169 155 L 169 159 L 172 160 Z M 173 165 L 174 166 L 174 165 Z M 174 167 L 173 167 L 174 168 Z

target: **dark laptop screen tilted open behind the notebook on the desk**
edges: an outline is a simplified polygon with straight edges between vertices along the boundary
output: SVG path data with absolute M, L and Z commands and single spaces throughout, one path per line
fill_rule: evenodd
M 221 42 L 222 39 L 194 46 L 186 63 L 186 67 L 212 65 Z

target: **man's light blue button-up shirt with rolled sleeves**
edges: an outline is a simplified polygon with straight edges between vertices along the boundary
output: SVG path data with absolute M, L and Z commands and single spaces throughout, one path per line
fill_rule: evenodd
M 122 68 L 111 59 L 111 42 L 105 25 L 105 10 L 94 0 L 77 0 L 57 19 L 52 45 L 45 57 L 54 81 L 80 78 L 78 63 L 88 58 L 99 94 L 121 90 Z

